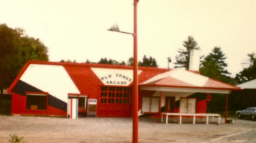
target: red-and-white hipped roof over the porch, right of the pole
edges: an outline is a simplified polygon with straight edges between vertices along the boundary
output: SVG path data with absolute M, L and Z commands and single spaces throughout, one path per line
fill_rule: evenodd
M 200 88 L 200 89 L 228 89 L 240 90 L 231 84 L 210 79 L 201 74 L 196 74 L 184 69 L 173 69 L 163 74 L 158 74 L 152 79 L 140 84 L 140 87 L 180 87 L 180 88 Z

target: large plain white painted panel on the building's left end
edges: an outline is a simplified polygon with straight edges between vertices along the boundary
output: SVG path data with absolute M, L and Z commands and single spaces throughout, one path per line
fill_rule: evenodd
M 20 80 L 63 102 L 68 102 L 68 93 L 80 94 L 63 66 L 30 64 Z

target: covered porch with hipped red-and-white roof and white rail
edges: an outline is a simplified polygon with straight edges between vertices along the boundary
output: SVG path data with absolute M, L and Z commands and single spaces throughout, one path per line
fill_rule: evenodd
M 193 123 L 196 117 L 206 117 L 208 123 L 209 115 L 220 119 L 218 114 L 206 113 L 211 94 L 226 94 L 228 99 L 228 94 L 232 90 L 239 90 L 239 87 L 204 77 L 193 71 L 173 69 L 140 84 L 140 114 L 155 114 L 159 122 L 163 120 L 163 116 L 166 117 L 166 122 L 168 116 L 180 117 L 180 124 L 182 117 L 193 117 Z M 228 106 L 228 101 L 226 103 Z

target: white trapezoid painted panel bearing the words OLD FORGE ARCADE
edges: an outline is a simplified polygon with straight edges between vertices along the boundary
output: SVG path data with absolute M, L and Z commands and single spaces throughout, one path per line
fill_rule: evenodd
M 105 85 L 129 86 L 133 81 L 132 69 L 102 69 L 91 68 Z M 141 71 L 138 71 L 140 74 Z

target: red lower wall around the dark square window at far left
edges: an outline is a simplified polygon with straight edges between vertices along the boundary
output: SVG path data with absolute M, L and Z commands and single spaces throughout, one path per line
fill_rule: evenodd
M 58 116 L 66 117 L 67 112 L 55 107 L 47 106 L 46 110 L 26 109 L 26 97 L 13 93 L 12 94 L 12 114 L 40 115 L 40 116 Z

